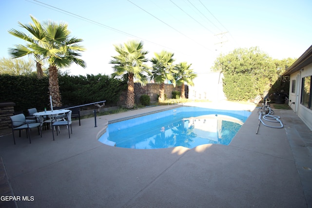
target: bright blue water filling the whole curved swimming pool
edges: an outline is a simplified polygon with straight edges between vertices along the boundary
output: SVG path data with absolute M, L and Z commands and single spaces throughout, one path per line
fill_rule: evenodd
M 98 140 L 133 149 L 228 145 L 250 114 L 248 111 L 180 107 L 111 123 Z

